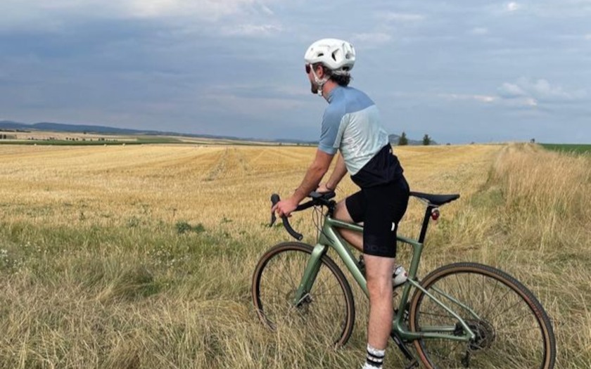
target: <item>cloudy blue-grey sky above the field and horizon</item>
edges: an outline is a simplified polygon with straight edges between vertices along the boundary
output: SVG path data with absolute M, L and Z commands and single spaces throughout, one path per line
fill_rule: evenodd
M 324 37 L 390 133 L 591 143 L 591 0 L 1 0 L 0 120 L 315 140 Z

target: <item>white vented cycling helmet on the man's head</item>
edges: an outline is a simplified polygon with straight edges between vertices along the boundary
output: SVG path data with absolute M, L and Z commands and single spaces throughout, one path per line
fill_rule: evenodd
M 321 39 L 310 45 L 304 59 L 307 64 L 322 63 L 334 75 L 349 75 L 355 65 L 355 48 L 340 39 Z

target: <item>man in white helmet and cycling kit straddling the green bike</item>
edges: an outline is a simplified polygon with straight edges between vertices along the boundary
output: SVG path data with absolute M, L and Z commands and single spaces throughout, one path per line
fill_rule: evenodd
M 362 91 L 348 86 L 355 65 L 355 48 L 340 39 L 321 39 L 305 53 L 305 71 L 312 93 L 328 101 L 314 161 L 290 198 L 272 212 L 289 216 L 313 190 L 334 190 L 349 172 L 360 191 L 338 202 L 334 216 L 364 222 L 364 233 L 341 231 L 343 238 L 364 254 L 369 290 L 366 369 L 382 368 L 393 320 L 393 268 L 398 222 L 406 212 L 409 186 L 393 155 L 378 109 Z M 336 167 L 320 183 L 333 157 Z

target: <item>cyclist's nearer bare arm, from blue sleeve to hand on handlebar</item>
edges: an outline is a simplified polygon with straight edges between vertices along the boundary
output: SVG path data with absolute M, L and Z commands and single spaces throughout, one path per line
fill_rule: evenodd
M 318 188 L 322 177 L 331 166 L 333 157 L 334 155 L 324 153 L 322 150 L 316 150 L 314 162 L 307 169 L 300 186 L 291 195 L 291 198 L 277 202 L 277 205 L 272 207 L 271 211 L 277 212 L 279 216 L 289 216 L 298 207 L 300 201 L 304 200 L 307 195 Z

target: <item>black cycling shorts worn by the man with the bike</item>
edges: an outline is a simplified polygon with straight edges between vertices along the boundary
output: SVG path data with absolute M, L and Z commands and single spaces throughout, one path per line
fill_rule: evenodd
M 396 257 L 396 232 L 406 212 L 408 197 L 409 186 L 402 176 L 392 183 L 362 188 L 345 199 L 353 221 L 364 222 L 364 254 Z

